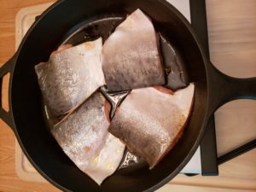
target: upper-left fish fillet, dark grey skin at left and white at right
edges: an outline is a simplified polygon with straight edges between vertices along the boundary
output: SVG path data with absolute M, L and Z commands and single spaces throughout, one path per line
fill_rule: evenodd
M 69 113 L 105 84 L 102 38 L 55 51 L 35 70 L 49 110 L 55 117 Z

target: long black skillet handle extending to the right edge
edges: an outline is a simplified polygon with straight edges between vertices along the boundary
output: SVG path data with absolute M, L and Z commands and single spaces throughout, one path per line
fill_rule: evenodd
M 207 65 L 209 79 L 208 115 L 212 115 L 226 102 L 236 99 L 256 100 L 256 78 L 238 79 L 220 72 L 209 63 Z M 210 117 L 209 116 L 209 117 Z

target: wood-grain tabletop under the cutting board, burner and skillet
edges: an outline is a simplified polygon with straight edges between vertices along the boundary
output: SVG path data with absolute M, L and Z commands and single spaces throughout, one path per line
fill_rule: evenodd
M 0 65 L 15 53 L 15 15 L 24 7 L 49 0 L 0 0 Z M 256 1 L 207 0 L 209 43 L 212 62 L 224 73 L 236 77 L 256 76 Z M 241 74 L 242 72 L 242 74 Z M 3 84 L 3 104 L 8 86 Z M 247 105 L 247 109 L 244 108 Z M 228 113 L 224 108 L 228 108 Z M 241 113 L 232 113 L 242 108 Z M 256 135 L 255 101 L 230 102 L 219 108 L 218 154 L 245 143 Z M 247 116 L 244 113 L 248 114 Z M 241 117 L 242 116 L 242 117 Z M 225 118 L 232 122 L 219 127 Z M 236 130 L 233 126 L 236 126 Z M 49 183 L 22 181 L 15 173 L 15 136 L 0 120 L 0 192 L 59 191 Z M 161 191 L 256 191 L 256 150 L 219 166 L 218 177 L 179 175 Z

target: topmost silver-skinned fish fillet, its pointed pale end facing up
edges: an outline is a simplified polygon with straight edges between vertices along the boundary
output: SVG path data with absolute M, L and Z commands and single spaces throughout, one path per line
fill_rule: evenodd
M 123 21 L 103 44 L 102 68 L 109 91 L 165 84 L 159 36 L 140 9 Z

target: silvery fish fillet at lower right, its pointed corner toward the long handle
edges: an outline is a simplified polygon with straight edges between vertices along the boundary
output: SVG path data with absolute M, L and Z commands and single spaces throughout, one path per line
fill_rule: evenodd
M 173 95 L 153 87 L 132 90 L 117 109 L 109 131 L 152 169 L 182 136 L 194 97 L 194 84 Z

